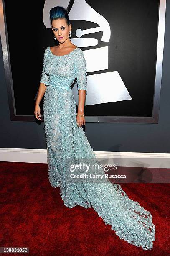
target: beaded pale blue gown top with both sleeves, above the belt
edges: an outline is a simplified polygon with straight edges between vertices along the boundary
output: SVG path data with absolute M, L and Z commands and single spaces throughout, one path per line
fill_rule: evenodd
M 86 76 L 86 60 L 79 47 L 62 56 L 54 55 L 50 46 L 45 49 L 40 82 L 68 90 L 76 79 L 78 89 L 86 90 Z

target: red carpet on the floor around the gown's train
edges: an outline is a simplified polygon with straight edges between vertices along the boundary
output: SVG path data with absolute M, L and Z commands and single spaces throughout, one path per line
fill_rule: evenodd
M 31 256 L 170 255 L 170 184 L 121 186 L 152 213 L 149 251 L 120 239 L 92 207 L 66 208 L 48 181 L 47 164 L 1 162 L 0 247 L 29 247 Z

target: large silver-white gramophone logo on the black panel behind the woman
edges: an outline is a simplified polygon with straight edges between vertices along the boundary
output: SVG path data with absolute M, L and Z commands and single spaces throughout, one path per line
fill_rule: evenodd
M 46 0 L 43 10 L 43 22 L 46 28 L 51 28 L 49 11 L 51 8 L 60 5 L 64 8 L 70 7 L 68 0 Z M 69 8 L 70 9 L 70 8 Z M 71 38 L 71 42 L 81 47 L 92 47 L 98 45 L 96 38 L 81 38 L 82 35 L 92 34 L 102 31 L 100 41 L 109 42 L 111 31 L 107 20 L 97 13 L 84 0 L 74 0 L 69 11 L 70 20 L 84 20 L 96 23 L 96 28 L 76 30 L 77 38 Z M 84 50 L 86 59 L 87 72 L 95 72 L 106 70 L 105 73 L 92 74 L 87 76 L 87 95 L 85 105 L 94 105 L 108 102 L 117 102 L 122 100 L 132 100 L 127 91 L 124 82 L 122 81 L 119 72 L 107 72 L 108 70 L 108 46 L 99 47 L 90 50 Z M 114 57 L 114 56 L 113 56 Z M 78 93 L 76 84 L 73 87 L 74 98 L 78 105 Z

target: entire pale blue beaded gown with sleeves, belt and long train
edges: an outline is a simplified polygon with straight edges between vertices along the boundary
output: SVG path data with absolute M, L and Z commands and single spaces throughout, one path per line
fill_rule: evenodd
M 105 225 L 116 234 L 143 250 L 153 247 L 155 225 L 152 215 L 136 201 L 129 199 L 119 184 L 109 179 L 104 183 L 67 182 L 66 159 L 96 159 L 82 127 L 76 123 L 76 102 L 71 85 L 87 90 L 86 61 L 78 47 L 69 54 L 56 56 L 47 47 L 44 52 L 41 83 L 46 84 L 43 101 L 47 143 L 48 177 L 52 187 L 60 187 L 66 207 L 93 207 Z M 97 159 L 96 159 L 97 162 Z M 97 170 L 96 174 L 104 174 Z

